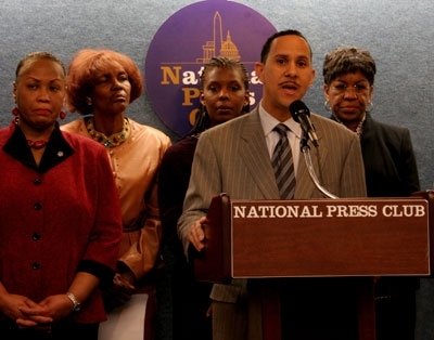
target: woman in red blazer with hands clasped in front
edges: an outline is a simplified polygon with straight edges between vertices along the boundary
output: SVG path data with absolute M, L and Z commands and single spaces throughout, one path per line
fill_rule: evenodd
M 2 339 L 98 339 L 98 287 L 114 275 L 120 207 L 103 146 L 61 132 L 65 69 L 47 52 L 24 57 L 15 118 L 0 129 Z

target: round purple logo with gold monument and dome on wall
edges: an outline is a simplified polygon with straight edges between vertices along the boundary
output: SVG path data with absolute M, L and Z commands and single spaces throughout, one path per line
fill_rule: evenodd
M 200 107 L 200 75 L 213 56 L 244 64 L 253 108 L 263 91 L 255 63 L 273 32 L 264 16 L 233 1 L 201 1 L 173 14 L 155 34 L 145 57 L 146 92 L 156 115 L 178 135 L 191 130 Z

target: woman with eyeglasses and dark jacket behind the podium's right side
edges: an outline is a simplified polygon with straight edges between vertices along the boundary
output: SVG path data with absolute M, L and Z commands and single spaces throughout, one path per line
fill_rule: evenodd
M 326 55 L 324 106 L 358 134 L 369 197 L 406 197 L 420 189 L 410 132 L 372 119 L 375 62 L 369 51 L 337 48 Z M 414 339 L 416 278 L 382 277 L 375 284 L 376 339 Z

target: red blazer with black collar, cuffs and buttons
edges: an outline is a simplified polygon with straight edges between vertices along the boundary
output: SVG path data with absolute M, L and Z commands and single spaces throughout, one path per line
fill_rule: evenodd
M 55 129 L 39 167 L 14 123 L 0 130 L 0 282 L 34 301 L 65 293 L 76 272 L 110 279 L 120 207 L 103 146 Z M 100 292 L 76 322 L 105 319 Z

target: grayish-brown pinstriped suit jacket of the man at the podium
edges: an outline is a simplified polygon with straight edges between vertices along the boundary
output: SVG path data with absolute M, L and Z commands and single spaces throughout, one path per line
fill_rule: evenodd
M 310 147 L 311 159 L 322 185 L 339 197 L 366 196 L 357 135 L 329 118 L 312 114 L 310 119 L 319 141 L 318 148 Z M 178 221 L 186 252 L 191 225 L 207 213 L 212 198 L 219 193 L 227 193 L 232 199 L 280 199 L 257 108 L 209 129 L 199 140 L 183 213 Z M 299 159 L 294 198 L 321 197 L 304 159 Z M 214 285 L 212 292 L 214 300 L 222 302 L 234 303 L 245 297 L 245 280 Z

